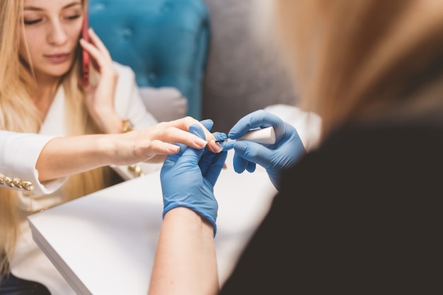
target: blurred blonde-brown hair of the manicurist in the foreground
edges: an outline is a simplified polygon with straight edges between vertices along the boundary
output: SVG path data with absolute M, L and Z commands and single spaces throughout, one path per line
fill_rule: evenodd
M 278 40 L 301 107 L 321 115 L 323 136 L 347 121 L 396 108 L 412 115 L 418 105 L 441 100 L 435 92 L 415 98 L 432 86 L 442 93 L 442 83 L 436 83 L 442 65 L 433 67 L 442 62 L 442 1 L 275 4 Z

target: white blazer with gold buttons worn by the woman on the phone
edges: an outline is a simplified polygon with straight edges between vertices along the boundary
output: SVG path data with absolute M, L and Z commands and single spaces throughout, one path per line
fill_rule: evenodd
M 132 69 L 117 63 L 115 63 L 115 69 L 119 74 L 115 91 L 117 113 L 122 118 L 130 119 L 134 129 L 155 125 L 157 120 L 146 110 L 139 96 Z M 64 100 L 63 88 L 59 87 L 40 129 L 40 134 L 0 130 L 0 187 L 9 187 L 19 191 L 19 209 L 23 213 L 21 214 L 21 235 L 18 237 L 15 253 L 9 261 L 11 272 L 16 277 L 44 284 L 52 295 L 74 295 L 75 292 L 33 241 L 26 216 L 62 203 L 59 188 L 66 178 L 53 180 L 43 185 L 38 181 L 35 163 L 43 146 L 50 139 L 67 135 L 64 126 Z M 143 163 L 142 166 L 144 173 L 161 168 L 161 164 Z M 127 174 L 126 166 L 113 168 L 120 169 L 120 175 Z M 32 192 L 29 191 L 30 187 L 33 187 Z M 54 224 L 57 224 L 57 221 L 54 221 Z

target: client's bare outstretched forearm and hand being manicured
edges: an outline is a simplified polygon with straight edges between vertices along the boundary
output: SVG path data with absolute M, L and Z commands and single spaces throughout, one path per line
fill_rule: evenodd
M 206 140 L 188 132 L 195 122 L 185 117 L 127 133 L 57 137 L 44 146 L 35 168 L 43 182 L 100 166 L 159 163 L 178 152 L 177 142 L 202 149 L 209 141 L 209 149 L 220 151 L 221 146 L 207 130 Z

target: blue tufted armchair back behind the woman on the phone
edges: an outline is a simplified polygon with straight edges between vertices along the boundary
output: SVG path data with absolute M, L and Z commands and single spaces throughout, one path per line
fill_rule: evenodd
M 202 0 L 90 0 L 89 25 L 140 87 L 174 87 L 202 116 L 209 16 Z

